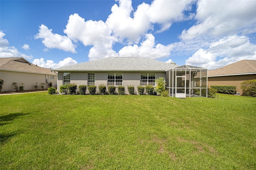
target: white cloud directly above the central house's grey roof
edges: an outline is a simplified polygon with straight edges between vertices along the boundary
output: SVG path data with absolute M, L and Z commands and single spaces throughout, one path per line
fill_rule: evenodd
M 147 57 L 151 59 L 158 59 L 168 57 L 171 53 L 173 45 L 162 45 L 158 43 L 155 45 L 155 38 L 152 34 L 146 34 L 146 40 L 138 45 L 128 45 L 123 47 L 118 52 L 119 57 Z

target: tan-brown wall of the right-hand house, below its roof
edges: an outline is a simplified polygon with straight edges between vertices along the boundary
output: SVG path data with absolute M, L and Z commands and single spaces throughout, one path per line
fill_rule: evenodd
M 256 79 L 256 74 L 208 77 L 208 87 L 210 87 L 211 85 L 234 85 L 236 86 L 236 92 L 242 95 L 240 83 L 252 79 Z

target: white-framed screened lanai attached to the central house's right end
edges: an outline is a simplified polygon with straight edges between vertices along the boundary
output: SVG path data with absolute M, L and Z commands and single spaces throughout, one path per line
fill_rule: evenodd
M 206 68 L 183 65 L 167 70 L 166 78 L 171 97 L 207 97 Z

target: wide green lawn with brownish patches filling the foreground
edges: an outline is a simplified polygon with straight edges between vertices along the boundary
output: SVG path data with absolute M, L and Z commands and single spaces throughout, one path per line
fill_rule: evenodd
M 218 98 L 0 96 L 0 168 L 256 169 L 256 98 Z

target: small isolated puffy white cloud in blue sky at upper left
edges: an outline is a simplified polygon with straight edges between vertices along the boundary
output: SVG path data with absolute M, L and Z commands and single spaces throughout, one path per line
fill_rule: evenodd
M 49 30 L 48 27 L 43 24 L 39 28 L 39 33 L 36 34 L 35 39 L 44 39 L 42 43 L 44 43 L 47 48 L 57 48 L 76 53 L 76 45 L 74 45 L 68 37 L 53 34 L 52 29 Z

